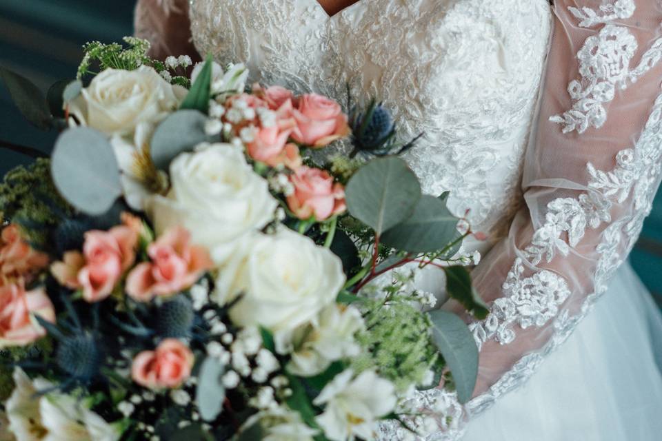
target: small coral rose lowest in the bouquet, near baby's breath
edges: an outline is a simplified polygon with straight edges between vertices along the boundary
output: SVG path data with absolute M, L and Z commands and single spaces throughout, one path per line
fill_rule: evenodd
M 193 353 L 174 338 L 159 343 L 154 351 L 143 351 L 134 359 L 131 378 L 148 389 L 174 389 L 190 377 Z

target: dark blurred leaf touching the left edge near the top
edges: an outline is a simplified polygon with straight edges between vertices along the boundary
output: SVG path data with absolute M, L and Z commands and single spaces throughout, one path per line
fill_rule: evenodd
M 41 90 L 32 81 L 6 68 L 0 68 L 0 78 L 28 122 L 41 130 L 49 130 L 52 116 Z

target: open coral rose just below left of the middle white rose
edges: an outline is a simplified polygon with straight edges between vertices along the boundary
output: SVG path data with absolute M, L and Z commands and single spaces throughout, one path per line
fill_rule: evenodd
M 152 261 L 132 269 L 126 279 L 127 293 L 148 302 L 154 296 L 170 296 L 193 285 L 213 263 L 205 248 L 190 241 L 188 231 L 175 227 L 150 244 Z

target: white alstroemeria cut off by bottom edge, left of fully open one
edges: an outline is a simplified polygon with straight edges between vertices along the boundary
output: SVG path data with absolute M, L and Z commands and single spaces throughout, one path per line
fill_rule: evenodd
M 262 441 L 312 441 L 319 431 L 308 427 L 299 412 L 284 407 L 262 411 L 249 418 L 242 430 L 259 424 L 263 430 Z

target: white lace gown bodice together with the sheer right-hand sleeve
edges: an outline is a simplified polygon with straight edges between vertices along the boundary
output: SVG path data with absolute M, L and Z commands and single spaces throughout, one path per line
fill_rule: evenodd
M 469 210 L 496 243 L 473 272 L 491 314 L 467 317 L 476 396 L 461 405 L 442 389 L 416 393 L 412 406 L 443 416 L 432 428 L 406 421 L 428 441 L 459 439 L 568 338 L 659 187 L 661 1 L 554 3 L 359 0 L 329 18 L 317 0 L 190 0 L 201 52 L 339 101 L 349 84 L 355 99 L 383 99 L 403 137 L 425 132 L 408 156 L 425 189 L 452 190 L 455 214 Z M 397 424 L 381 431 L 410 439 Z

